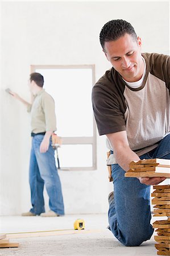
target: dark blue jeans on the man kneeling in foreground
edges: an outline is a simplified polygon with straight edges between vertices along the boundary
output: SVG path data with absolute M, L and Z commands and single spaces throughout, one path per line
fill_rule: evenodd
M 140 159 L 154 158 L 170 159 L 170 134 L 154 150 L 140 156 Z M 114 200 L 109 207 L 109 229 L 123 245 L 139 246 L 154 232 L 150 224 L 150 186 L 125 177 L 125 171 L 118 164 L 113 164 L 111 169 Z

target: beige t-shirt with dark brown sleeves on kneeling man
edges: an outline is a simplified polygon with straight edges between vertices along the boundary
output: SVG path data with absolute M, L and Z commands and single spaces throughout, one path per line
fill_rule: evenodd
M 146 75 L 133 89 L 114 68 L 106 71 L 92 91 L 99 135 L 127 132 L 131 150 L 145 154 L 170 132 L 170 57 L 143 53 Z M 107 141 L 111 149 L 111 144 Z

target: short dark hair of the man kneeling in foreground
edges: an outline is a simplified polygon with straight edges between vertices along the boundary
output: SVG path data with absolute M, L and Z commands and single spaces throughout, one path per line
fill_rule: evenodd
M 115 41 L 129 34 L 137 41 L 137 35 L 130 23 L 123 19 L 113 19 L 107 22 L 99 34 L 99 40 L 103 50 L 105 51 L 105 42 Z

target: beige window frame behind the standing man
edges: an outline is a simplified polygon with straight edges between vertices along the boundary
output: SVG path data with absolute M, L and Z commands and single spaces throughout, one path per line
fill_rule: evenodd
M 31 65 L 31 73 L 36 69 L 92 69 L 92 88 L 95 84 L 95 65 Z M 97 139 L 96 139 L 96 122 L 93 115 L 93 136 L 92 137 L 61 137 L 62 144 L 91 144 L 92 145 L 92 167 L 60 167 L 60 170 L 69 171 L 91 171 L 97 169 Z M 62 147 L 62 145 L 61 145 Z M 60 160 L 60 152 L 59 152 Z

